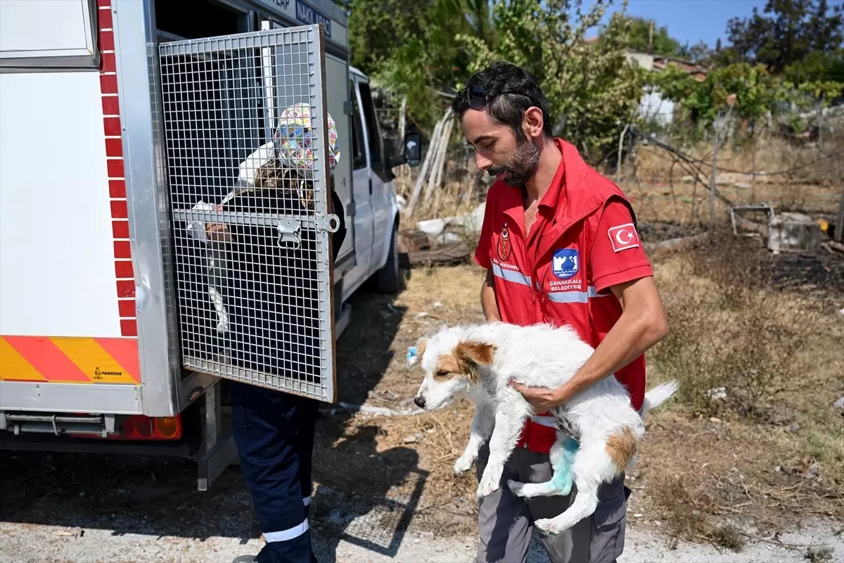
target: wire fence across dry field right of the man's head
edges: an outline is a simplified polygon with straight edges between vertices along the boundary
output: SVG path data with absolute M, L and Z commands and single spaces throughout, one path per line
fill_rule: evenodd
M 823 143 L 800 133 L 725 129 L 690 139 L 670 129 L 625 128 L 612 173 L 640 219 L 717 221 L 733 206 L 767 203 L 836 220 L 844 186 L 841 127 Z

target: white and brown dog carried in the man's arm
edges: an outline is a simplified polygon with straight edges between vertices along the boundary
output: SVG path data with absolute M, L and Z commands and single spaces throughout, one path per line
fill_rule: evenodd
M 463 473 L 471 468 L 481 445 L 490 440 L 490 460 L 478 485 L 481 498 L 498 489 L 522 426 L 535 414 L 508 382 L 561 387 L 593 351 L 571 327 L 490 322 L 442 328 L 408 350 L 408 364 L 418 363 L 425 371 L 414 402 L 435 410 L 457 392 L 467 392 L 473 400 L 469 441 L 454 470 Z M 508 483 L 516 495 L 533 497 L 568 495 L 574 481 L 575 501 L 559 516 L 538 520 L 540 530 L 560 533 L 595 511 L 598 486 L 621 474 L 636 454 L 645 433 L 642 416 L 671 398 L 677 388 L 677 382 L 668 382 L 647 392 L 640 414 L 630 405 L 625 387 L 611 375 L 555 409 L 557 440 L 550 455 L 554 477 L 547 483 Z

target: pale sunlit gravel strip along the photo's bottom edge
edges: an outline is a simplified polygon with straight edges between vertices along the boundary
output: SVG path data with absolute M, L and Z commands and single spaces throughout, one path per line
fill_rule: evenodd
M 140 522 L 139 522 L 140 524 Z M 671 548 L 668 539 L 648 529 L 628 528 L 627 548 L 619 563 L 639 561 L 676 561 L 688 563 L 798 563 L 808 560 L 809 546 L 827 546 L 833 551 L 829 563 L 844 561 L 844 542 L 836 536 L 832 522 L 814 522 L 803 532 L 784 533 L 782 547 L 753 542 L 740 553 L 716 549 L 710 545 L 680 543 Z M 0 560 L 18 561 L 179 561 L 226 563 L 237 555 L 256 553 L 260 539 L 211 536 L 204 539 L 157 536 L 146 533 L 115 533 L 108 529 L 66 528 L 26 523 L 0 524 Z M 473 537 L 436 538 L 429 534 L 408 533 L 395 549 L 371 544 L 367 538 L 337 541 L 317 536 L 314 545 L 319 561 L 349 562 L 465 562 L 473 560 Z M 541 546 L 533 542 L 528 563 L 547 561 Z

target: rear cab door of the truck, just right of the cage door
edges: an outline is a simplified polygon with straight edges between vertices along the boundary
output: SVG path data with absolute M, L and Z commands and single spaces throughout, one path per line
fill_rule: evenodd
M 352 186 L 354 189 L 354 254 L 356 267 L 354 273 L 365 278 L 372 267 L 372 238 L 374 221 L 372 216 L 372 184 L 368 151 L 366 149 L 366 129 L 364 116 L 360 111 L 360 93 L 354 78 L 349 78 L 350 99 L 352 100 Z M 352 280 L 352 284 L 357 285 Z

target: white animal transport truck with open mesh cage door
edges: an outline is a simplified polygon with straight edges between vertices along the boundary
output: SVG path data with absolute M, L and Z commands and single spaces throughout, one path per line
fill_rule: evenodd
M 225 382 L 336 401 L 346 301 L 398 290 L 418 134 L 392 152 L 332 2 L 0 2 L 0 448 L 193 457 L 206 490 Z

